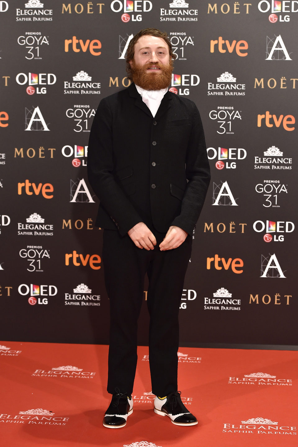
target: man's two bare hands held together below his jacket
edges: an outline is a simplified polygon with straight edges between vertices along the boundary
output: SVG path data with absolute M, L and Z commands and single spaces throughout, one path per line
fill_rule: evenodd
M 144 222 L 134 225 L 127 234 L 139 249 L 153 250 L 156 245 L 154 234 Z M 164 240 L 159 244 L 160 251 L 176 249 L 185 241 L 187 234 L 182 228 L 172 225 Z

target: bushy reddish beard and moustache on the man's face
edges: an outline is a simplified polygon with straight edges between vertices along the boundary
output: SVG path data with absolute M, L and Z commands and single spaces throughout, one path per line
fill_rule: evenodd
M 149 67 L 158 67 L 158 73 L 152 73 L 147 70 Z M 173 71 L 172 59 L 167 65 L 162 63 L 147 63 L 146 65 L 131 64 L 132 80 L 134 84 L 139 85 L 145 90 L 166 89 L 171 83 Z

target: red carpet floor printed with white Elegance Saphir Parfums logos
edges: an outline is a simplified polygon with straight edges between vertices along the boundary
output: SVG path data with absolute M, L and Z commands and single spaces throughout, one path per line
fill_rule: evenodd
M 102 426 L 108 346 L 0 342 L 0 445 L 9 447 L 297 446 L 298 352 L 181 348 L 179 389 L 199 424 L 153 411 L 139 347 L 134 413 Z

